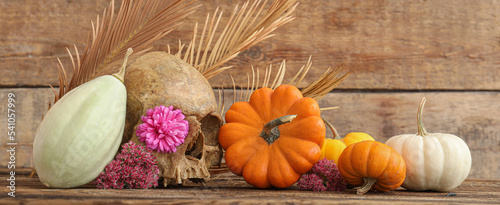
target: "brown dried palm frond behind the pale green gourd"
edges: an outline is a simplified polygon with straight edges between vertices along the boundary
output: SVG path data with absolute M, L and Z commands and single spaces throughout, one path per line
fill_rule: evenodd
M 75 46 L 76 63 L 68 53 L 73 66 L 73 76 L 68 82 L 65 68 L 59 61 L 59 93 L 54 103 L 71 89 L 90 81 L 94 74 L 106 65 L 123 58 L 127 48 L 135 55 L 144 53 L 149 46 L 176 28 L 197 6 L 195 0 L 123 0 L 114 12 L 114 0 L 104 10 L 102 18 L 92 22 L 92 32 L 80 57 Z M 50 108 L 49 108 L 50 109 Z

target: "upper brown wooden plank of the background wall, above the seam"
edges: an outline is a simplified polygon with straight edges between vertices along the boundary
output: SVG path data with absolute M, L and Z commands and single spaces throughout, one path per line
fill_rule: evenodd
M 186 23 L 156 44 L 165 50 L 187 40 L 195 22 L 217 6 L 226 11 L 245 1 L 202 0 Z M 90 21 L 108 0 L 1 1 L 0 86 L 57 85 L 56 57 L 65 47 L 83 49 Z M 117 2 L 119 4 L 119 1 Z M 291 76 L 310 55 L 314 70 L 344 64 L 354 75 L 342 89 L 499 90 L 500 4 L 495 1 L 301 1 L 296 19 L 276 36 L 228 63 L 235 68 L 211 79 L 229 87 L 232 74 L 245 81 L 251 66 L 263 69 L 287 60 Z M 175 46 L 174 46 L 175 47 Z

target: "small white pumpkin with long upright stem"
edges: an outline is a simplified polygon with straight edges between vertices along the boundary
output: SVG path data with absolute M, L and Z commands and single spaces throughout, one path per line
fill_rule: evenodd
M 401 185 L 412 191 L 449 191 L 469 175 L 471 154 L 467 144 L 452 134 L 428 133 L 422 123 L 422 99 L 417 114 L 418 134 L 391 137 L 385 144 L 401 154 L 406 179 Z

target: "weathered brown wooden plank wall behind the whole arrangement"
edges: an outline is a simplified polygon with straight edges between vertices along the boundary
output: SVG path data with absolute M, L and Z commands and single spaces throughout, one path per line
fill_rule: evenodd
M 7 93 L 15 93 L 18 166 L 32 166 L 33 137 L 53 98 L 48 84 L 57 85 L 56 57 L 67 63 L 65 47 L 76 44 L 83 49 L 90 21 L 108 3 L 0 0 L 0 147 L 7 149 Z M 157 43 L 157 49 L 189 39 L 194 23 L 217 6 L 227 18 L 238 2 L 200 3 L 204 6 L 199 12 Z M 461 136 L 472 151 L 470 177 L 498 179 L 499 12 L 494 0 L 300 1 L 293 22 L 241 53 L 228 63 L 232 70 L 210 82 L 227 88 L 229 74 L 246 82 L 252 65 L 263 69 L 284 59 L 290 79 L 312 56 L 314 69 L 305 85 L 326 68 L 343 63 L 354 74 L 320 101 L 322 106 L 341 107 L 324 115 L 342 135 L 364 131 L 385 142 L 393 135 L 415 133 L 417 106 L 426 96 L 428 131 Z M 8 156 L 0 153 L 0 165 L 5 166 Z

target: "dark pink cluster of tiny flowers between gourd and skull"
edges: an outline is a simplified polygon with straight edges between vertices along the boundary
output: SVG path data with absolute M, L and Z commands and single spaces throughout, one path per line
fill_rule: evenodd
M 99 189 L 148 189 L 158 186 L 160 169 L 150 149 L 130 141 L 94 179 Z

